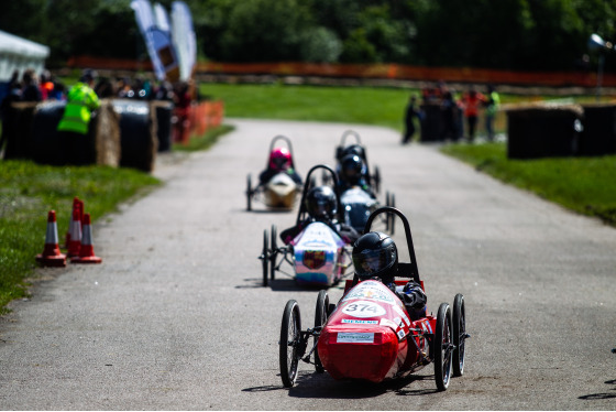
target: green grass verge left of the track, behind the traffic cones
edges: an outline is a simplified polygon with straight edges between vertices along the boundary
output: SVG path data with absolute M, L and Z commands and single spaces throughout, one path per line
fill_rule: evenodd
M 45 245 L 48 210 L 56 210 L 62 243 L 75 196 L 96 220 L 120 202 L 160 184 L 131 169 L 54 167 L 28 161 L 0 162 L 0 313 L 11 300 L 28 296 L 26 278 Z

